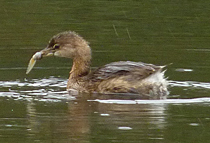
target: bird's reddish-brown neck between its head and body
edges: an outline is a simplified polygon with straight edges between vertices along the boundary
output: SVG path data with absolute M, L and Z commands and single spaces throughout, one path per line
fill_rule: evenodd
M 88 75 L 90 72 L 90 58 L 74 58 L 73 66 L 70 71 L 69 80 L 78 79 Z

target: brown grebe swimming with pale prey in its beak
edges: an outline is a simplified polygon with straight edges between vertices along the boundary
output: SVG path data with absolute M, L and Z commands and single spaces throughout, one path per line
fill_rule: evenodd
M 82 37 L 74 32 L 55 35 L 47 48 L 31 58 L 27 73 L 35 61 L 45 56 L 73 59 L 67 90 L 75 95 L 85 93 L 131 93 L 147 99 L 164 99 L 168 95 L 164 66 L 142 62 L 120 61 L 90 71 L 91 49 Z

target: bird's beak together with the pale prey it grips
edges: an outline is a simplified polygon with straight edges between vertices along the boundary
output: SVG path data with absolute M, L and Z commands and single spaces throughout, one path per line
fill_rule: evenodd
M 50 48 L 45 48 L 39 52 L 36 52 L 28 63 L 28 68 L 26 74 L 28 74 L 34 67 L 37 60 L 42 59 L 43 57 L 53 56 L 54 52 Z

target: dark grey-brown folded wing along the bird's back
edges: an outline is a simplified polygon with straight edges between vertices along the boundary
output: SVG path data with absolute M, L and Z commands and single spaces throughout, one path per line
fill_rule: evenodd
M 141 80 L 162 70 L 164 66 L 155 66 L 142 62 L 120 61 L 107 64 L 98 68 L 90 75 L 90 79 L 95 82 L 117 78 L 120 76 L 132 77 L 136 80 Z M 129 79 L 128 79 L 129 80 Z

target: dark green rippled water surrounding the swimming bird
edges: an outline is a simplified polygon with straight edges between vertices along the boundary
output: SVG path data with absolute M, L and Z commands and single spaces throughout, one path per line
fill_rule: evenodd
M 208 142 L 209 13 L 204 0 L 0 1 L 0 142 Z M 92 67 L 173 63 L 169 99 L 70 97 L 70 59 L 45 58 L 26 75 L 31 56 L 66 30 L 90 42 Z

